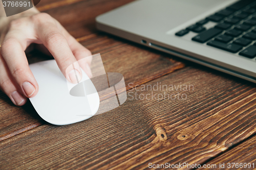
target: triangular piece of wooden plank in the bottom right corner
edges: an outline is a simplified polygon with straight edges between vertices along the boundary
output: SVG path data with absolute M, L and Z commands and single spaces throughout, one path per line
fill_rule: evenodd
M 256 136 L 245 140 L 236 147 L 223 153 L 217 158 L 207 162 L 205 169 L 210 167 L 223 167 L 229 169 L 255 169 L 256 168 Z

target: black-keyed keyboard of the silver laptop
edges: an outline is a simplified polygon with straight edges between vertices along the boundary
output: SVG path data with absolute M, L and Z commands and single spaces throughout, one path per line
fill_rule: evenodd
M 209 21 L 217 25 L 207 30 L 204 25 Z M 175 35 L 181 37 L 190 31 L 198 33 L 193 41 L 252 59 L 256 56 L 256 0 L 232 4 Z

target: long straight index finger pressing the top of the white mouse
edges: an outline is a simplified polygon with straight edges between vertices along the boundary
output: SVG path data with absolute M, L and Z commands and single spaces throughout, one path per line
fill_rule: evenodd
M 39 14 L 38 14 L 39 15 Z M 40 15 L 40 17 L 46 17 L 44 19 L 44 23 L 40 24 L 40 22 L 35 27 L 35 34 L 38 36 L 38 39 L 42 41 L 42 43 L 48 48 L 49 52 L 55 58 L 59 69 L 62 74 L 72 83 L 78 83 L 78 81 L 82 78 L 82 73 L 78 62 L 76 62 L 76 58 L 72 51 L 70 50 L 67 39 L 61 31 L 57 28 L 54 21 L 53 22 L 45 22 L 49 20 L 51 17 L 48 14 L 44 14 L 46 16 Z M 51 20 L 53 20 L 51 18 Z M 73 67 L 69 67 L 73 65 Z

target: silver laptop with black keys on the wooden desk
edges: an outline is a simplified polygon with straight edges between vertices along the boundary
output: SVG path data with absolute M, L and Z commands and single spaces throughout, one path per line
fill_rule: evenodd
M 254 0 L 139 0 L 98 16 L 96 27 L 256 83 Z

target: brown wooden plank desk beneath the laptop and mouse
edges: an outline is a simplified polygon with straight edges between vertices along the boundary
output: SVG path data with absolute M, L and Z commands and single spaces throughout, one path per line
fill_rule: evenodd
M 1 169 L 143 169 L 150 163 L 185 162 L 256 167 L 255 84 L 95 29 L 97 15 L 131 1 L 38 4 L 93 54 L 100 53 L 106 72 L 120 72 L 130 95 L 114 110 L 73 125 L 53 126 L 29 102 L 16 107 L 1 92 Z M 32 63 L 49 58 L 34 51 L 28 59 Z M 193 85 L 193 90 L 143 89 L 160 84 Z M 136 85 L 138 91 L 133 89 Z M 141 98 L 151 92 L 179 92 L 186 99 L 131 100 L 135 92 Z

